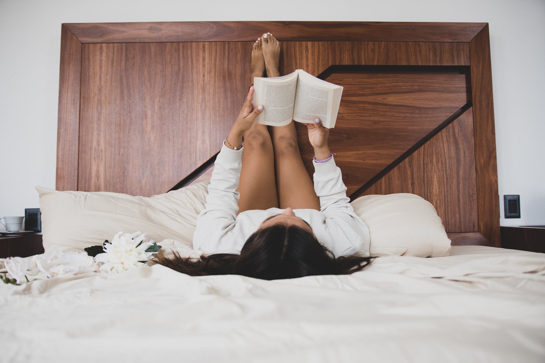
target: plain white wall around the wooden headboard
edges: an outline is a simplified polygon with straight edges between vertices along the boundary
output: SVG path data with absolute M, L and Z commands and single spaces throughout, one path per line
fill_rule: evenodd
M 500 224 L 545 224 L 543 0 L 0 0 L 0 216 L 55 186 L 61 23 L 226 20 L 488 22 L 498 203 L 520 194 L 522 211 L 504 219 L 501 204 Z

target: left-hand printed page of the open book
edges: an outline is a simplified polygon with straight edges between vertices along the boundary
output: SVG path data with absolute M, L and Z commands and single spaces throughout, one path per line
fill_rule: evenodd
M 254 80 L 254 106 L 265 106 L 256 122 L 264 125 L 283 126 L 292 122 L 297 74 Z

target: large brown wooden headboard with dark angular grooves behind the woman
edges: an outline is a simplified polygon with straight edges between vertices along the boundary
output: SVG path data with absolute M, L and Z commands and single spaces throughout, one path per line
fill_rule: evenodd
M 352 199 L 415 193 L 453 244 L 500 246 L 487 23 L 63 24 L 57 189 L 151 196 L 204 178 L 265 32 L 281 74 L 344 87 L 330 148 Z

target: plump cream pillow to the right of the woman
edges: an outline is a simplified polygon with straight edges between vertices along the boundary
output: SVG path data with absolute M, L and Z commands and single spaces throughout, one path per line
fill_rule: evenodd
M 426 199 L 409 193 L 366 195 L 352 207 L 369 228 L 371 256 L 449 256 L 450 239 Z

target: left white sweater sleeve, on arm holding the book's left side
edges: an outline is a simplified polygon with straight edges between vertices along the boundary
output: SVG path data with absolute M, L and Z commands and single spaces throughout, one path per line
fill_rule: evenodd
M 214 163 L 204 210 L 197 217 L 193 249 L 208 253 L 236 249 L 232 239 L 223 237 L 231 231 L 237 219 L 237 203 L 240 198 L 237 188 L 243 149 L 229 149 L 223 142 Z

